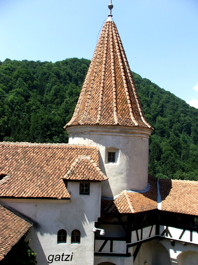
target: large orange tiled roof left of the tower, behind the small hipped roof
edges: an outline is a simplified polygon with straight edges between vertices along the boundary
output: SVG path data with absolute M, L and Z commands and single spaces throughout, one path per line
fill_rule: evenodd
M 79 155 L 99 166 L 94 146 L 0 143 L 0 196 L 69 199 L 62 178 Z

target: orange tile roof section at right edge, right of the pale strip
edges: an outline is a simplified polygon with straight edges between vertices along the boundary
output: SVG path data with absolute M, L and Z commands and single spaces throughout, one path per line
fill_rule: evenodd
M 198 182 L 159 180 L 161 209 L 198 216 Z

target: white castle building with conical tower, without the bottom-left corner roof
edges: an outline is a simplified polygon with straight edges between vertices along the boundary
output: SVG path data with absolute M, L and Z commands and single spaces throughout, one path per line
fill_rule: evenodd
M 153 129 L 112 8 L 65 125 L 69 143 L 1 143 L 0 201 L 32 225 L 39 265 L 197 264 L 198 184 L 148 176 Z

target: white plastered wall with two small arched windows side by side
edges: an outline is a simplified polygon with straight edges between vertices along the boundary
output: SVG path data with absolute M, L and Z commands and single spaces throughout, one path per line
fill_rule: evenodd
M 69 264 L 93 264 L 92 228 L 100 217 L 101 182 L 90 183 L 90 195 L 79 195 L 79 182 L 69 182 L 68 190 L 71 200 L 2 199 L 5 205 L 33 222 L 27 238 L 31 239 L 30 246 L 37 253 L 38 265 L 65 264 L 66 261 L 62 261 L 65 255 L 70 255 L 69 259 L 72 255 Z M 60 229 L 67 232 L 66 244 L 57 244 Z M 74 229 L 81 232 L 80 244 L 71 244 Z

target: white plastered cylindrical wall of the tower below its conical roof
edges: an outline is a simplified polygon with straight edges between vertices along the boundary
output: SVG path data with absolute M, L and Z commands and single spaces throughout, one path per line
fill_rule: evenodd
M 109 178 L 102 184 L 102 196 L 114 197 L 125 189 L 143 190 L 148 184 L 148 139 L 150 129 L 124 126 L 71 126 L 70 144 L 96 145 L 100 168 Z M 119 150 L 116 163 L 106 163 L 106 149 Z

